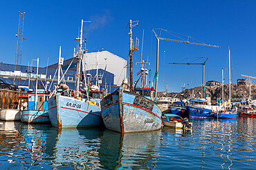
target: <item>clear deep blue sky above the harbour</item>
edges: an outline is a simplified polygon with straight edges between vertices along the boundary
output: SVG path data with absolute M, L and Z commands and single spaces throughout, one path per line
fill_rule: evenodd
M 15 63 L 16 36 L 19 11 L 26 12 L 22 64 L 28 65 L 39 57 L 39 65 L 57 63 L 59 46 L 62 56 L 73 55 L 73 41 L 78 35 L 81 19 L 91 21 L 84 25 L 84 38 L 89 52 L 108 50 L 127 59 L 129 52 L 129 19 L 139 20 L 133 29 L 134 37 L 142 42 L 145 30 L 143 59 L 156 69 L 156 39 L 151 28 L 163 28 L 192 36 L 204 43 L 221 46 L 220 49 L 168 41 L 160 42 L 159 85 L 172 92 L 180 92 L 181 85 L 191 88 L 202 83 L 200 65 L 168 65 L 184 62 L 186 58 L 208 57 L 205 81 L 221 81 L 221 68 L 228 68 L 228 46 L 232 57 L 232 82 L 243 78 L 240 74 L 256 76 L 255 31 L 256 1 L 1 1 L 0 2 L 0 62 Z M 171 34 L 163 34 L 174 39 Z M 197 41 L 195 41 L 197 42 Z M 141 46 L 141 44 L 140 44 Z M 165 50 L 165 59 L 163 51 Z M 135 53 L 140 61 L 140 51 Z M 190 59 L 192 61 L 193 59 Z M 199 61 L 200 62 L 200 61 Z M 138 72 L 137 65 L 134 65 Z M 0 68 L 1 70 L 1 68 Z M 228 70 L 226 83 L 228 82 Z M 136 79 L 136 78 L 134 78 Z M 164 81 L 163 81 L 164 80 Z

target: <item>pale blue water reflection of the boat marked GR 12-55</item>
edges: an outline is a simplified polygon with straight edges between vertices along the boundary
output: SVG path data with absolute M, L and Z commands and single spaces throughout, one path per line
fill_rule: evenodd
M 55 138 L 54 167 L 75 169 L 98 169 L 102 129 L 62 129 Z M 53 136 L 49 140 L 55 140 Z

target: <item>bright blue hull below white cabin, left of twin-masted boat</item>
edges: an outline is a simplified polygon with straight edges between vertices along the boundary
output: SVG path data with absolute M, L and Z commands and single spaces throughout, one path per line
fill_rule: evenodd
M 210 109 L 187 106 L 187 111 L 190 118 L 214 118 L 214 114 Z

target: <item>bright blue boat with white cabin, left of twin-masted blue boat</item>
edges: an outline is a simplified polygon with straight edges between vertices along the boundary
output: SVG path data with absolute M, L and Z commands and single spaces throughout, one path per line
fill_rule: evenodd
M 217 105 L 210 105 L 207 100 L 190 99 L 190 103 L 186 106 L 190 118 L 214 118 L 214 113 L 220 110 Z

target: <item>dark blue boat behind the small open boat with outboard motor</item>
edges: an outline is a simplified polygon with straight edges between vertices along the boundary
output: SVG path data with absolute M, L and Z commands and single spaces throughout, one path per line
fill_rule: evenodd
M 189 118 L 188 111 L 184 102 L 174 102 L 169 107 L 170 114 L 176 114 L 182 118 Z

